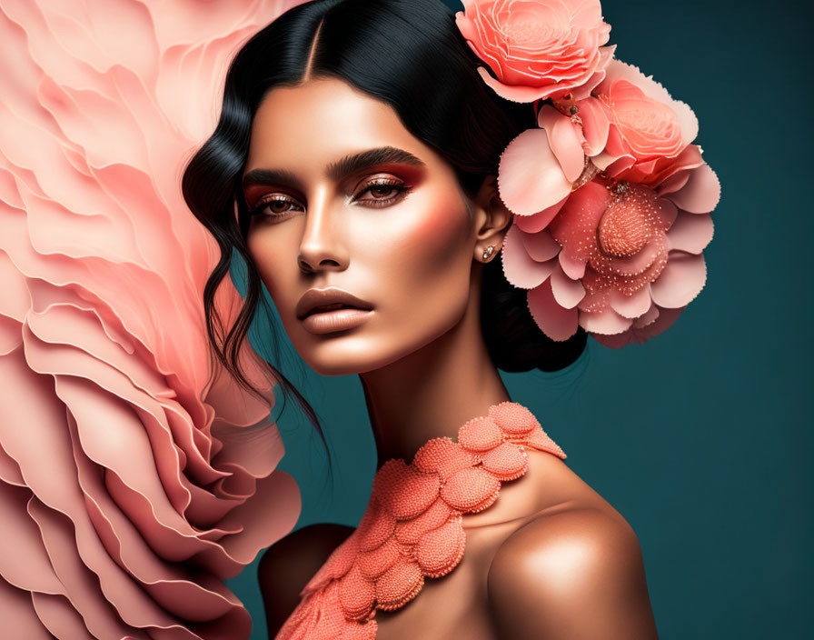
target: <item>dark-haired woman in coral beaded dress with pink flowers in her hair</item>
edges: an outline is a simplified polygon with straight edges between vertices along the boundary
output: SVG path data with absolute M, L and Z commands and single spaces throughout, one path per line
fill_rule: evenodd
M 497 370 L 570 365 L 586 329 L 620 346 L 667 328 L 703 285 L 717 182 L 689 107 L 611 62 L 598 3 L 464 5 L 457 18 L 438 0 L 289 10 L 235 57 L 220 123 L 184 174 L 223 250 L 210 287 L 236 249 L 242 314 L 262 282 L 315 371 L 360 376 L 376 438 L 359 528 L 314 525 L 263 557 L 269 633 L 656 637 L 630 525 Z M 518 421 L 533 437 L 511 435 Z M 463 442 L 497 428 L 517 473 Z M 472 457 L 428 468 L 453 449 Z M 456 508 L 443 487 L 462 469 L 491 473 L 501 499 Z M 408 541 L 405 523 L 436 506 Z M 453 543 L 427 542 L 443 527 Z M 422 548 L 452 555 L 435 570 Z

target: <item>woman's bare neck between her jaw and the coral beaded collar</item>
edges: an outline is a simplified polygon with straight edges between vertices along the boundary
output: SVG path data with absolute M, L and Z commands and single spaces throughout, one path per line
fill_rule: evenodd
M 481 333 L 480 296 L 471 295 L 462 321 L 429 345 L 360 375 L 378 452 L 412 461 L 434 437 L 457 439 L 467 420 L 510 400 Z

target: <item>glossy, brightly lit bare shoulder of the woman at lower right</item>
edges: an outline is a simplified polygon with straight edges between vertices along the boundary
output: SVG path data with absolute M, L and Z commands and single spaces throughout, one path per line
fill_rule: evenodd
M 503 541 L 488 574 L 501 640 L 653 640 L 639 540 L 603 501 L 538 515 Z

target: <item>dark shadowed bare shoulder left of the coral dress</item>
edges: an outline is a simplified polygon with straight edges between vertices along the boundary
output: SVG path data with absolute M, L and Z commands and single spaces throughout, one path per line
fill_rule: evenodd
M 266 550 L 260 559 L 257 577 L 269 637 L 277 634 L 300 602 L 303 586 L 352 532 L 352 527 L 345 525 L 303 526 Z

